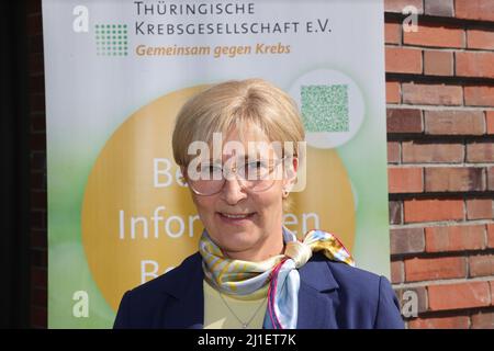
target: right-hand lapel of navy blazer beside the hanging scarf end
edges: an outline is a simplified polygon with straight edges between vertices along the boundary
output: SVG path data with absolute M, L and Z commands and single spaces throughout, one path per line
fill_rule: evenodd
M 300 270 L 297 329 L 337 328 L 334 304 L 337 288 L 333 273 L 325 262 L 315 257 Z

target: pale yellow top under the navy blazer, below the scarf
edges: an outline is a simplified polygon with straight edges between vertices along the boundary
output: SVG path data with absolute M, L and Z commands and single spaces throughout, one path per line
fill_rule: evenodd
M 255 315 L 247 329 L 262 329 L 268 306 L 266 296 L 260 299 L 245 301 L 222 294 L 223 298 L 221 298 L 220 293 L 206 281 L 203 281 L 202 285 L 204 288 L 204 329 L 242 329 L 242 324 L 235 318 L 235 315 L 243 322 L 248 322 Z

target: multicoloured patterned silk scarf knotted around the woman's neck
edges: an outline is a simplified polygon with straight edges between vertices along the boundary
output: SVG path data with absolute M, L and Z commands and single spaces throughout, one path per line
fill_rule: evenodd
M 232 260 L 204 229 L 199 242 L 202 267 L 207 283 L 220 293 L 239 299 L 257 299 L 268 294 L 265 329 L 295 329 L 299 312 L 300 275 L 313 252 L 321 251 L 334 261 L 355 265 L 350 253 L 332 234 L 310 230 L 303 241 L 283 227 L 284 254 L 261 262 Z

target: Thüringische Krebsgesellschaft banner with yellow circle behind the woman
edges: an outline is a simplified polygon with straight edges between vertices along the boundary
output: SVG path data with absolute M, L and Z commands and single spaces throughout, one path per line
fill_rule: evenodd
M 297 102 L 306 184 L 284 224 L 390 270 L 382 1 L 44 0 L 48 326 L 109 328 L 123 293 L 197 251 L 173 162 L 192 94 L 262 78 Z

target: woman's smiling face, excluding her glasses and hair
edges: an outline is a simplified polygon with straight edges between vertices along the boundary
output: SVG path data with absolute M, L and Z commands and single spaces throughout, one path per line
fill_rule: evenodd
M 234 129 L 223 145 L 238 141 L 248 154 L 248 141 L 265 141 L 268 148 L 260 152 L 261 158 L 279 159 L 266 136 L 256 128 L 247 128 L 240 140 Z M 237 144 L 237 145 L 239 145 Z M 243 159 L 244 155 L 235 155 L 223 149 L 223 165 L 235 165 L 234 160 Z M 233 159 L 231 159 L 233 158 Z M 228 161 L 229 160 L 229 161 Z M 296 160 L 294 161 L 296 168 Z M 283 166 L 278 166 L 282 168 Z M 226 167 L 228 168 L 228 167 Z M 271 188 L 262 192 L 243 189 L 235 177 L 227 178 L 221 191 L 204 196 L 191 191 L 192 200 L 199 216 L 211 239 L 222 249 L 227 258 L 261 261 L 279 254 L 283 250 L 282 241 L 282 199 L 287 180 L 277 179 Z

